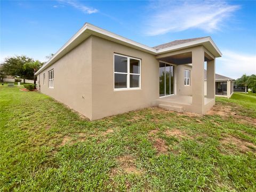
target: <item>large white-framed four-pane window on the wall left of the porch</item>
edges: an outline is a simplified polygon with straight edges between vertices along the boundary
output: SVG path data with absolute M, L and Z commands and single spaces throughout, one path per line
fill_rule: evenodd
M 114 54 L 115 90 L 140 88 L 140 63 L 140 59 Z

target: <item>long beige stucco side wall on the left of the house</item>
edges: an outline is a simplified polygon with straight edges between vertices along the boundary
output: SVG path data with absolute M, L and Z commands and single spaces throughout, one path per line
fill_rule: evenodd
M 52 66 L 38 74 L 40 90 L 86 117 L 92 117 L 92 65 L 89 37 Z M 54 88 L 48 87 L 48 71 L 54 69 Z M 46 75 L 45 85 L 43 74 Z M 37 81 L 38 81 L 37 80 Z

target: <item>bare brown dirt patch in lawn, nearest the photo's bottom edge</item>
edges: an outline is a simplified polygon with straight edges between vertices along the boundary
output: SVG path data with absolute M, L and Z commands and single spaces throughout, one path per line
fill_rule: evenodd
M 121 169 L 125 173 L 134 173 L 134 174 L 141 174 L 142 171 L 138 170 L 135 166 L 135 159 L 131 155 L 123 155 L 117 158 L 118 163 L 121 166 Z M 117 170 L 113 169 L 111 174 L 116 174 Z

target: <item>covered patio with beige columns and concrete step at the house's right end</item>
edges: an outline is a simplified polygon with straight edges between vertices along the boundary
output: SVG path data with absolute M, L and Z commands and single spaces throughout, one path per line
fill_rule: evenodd
M 157 99 L 159 107 L 177 111 L 190 111 L 205 114 L 215 104 L 215 56 L 205 46 L 199 45 L 183 50 L 166 52 L 156 55 L 160 62 L 172 63 L 174 67 L 175 91 L 174 95 Z M 204 91 L 204 66 L 207 66 L 207 90 Z M 184 87 L 184 73 L 182 65 L 190 64 L 191 77 L 189 87 Z M 180 71 L 179 71 L 180 70 Z M 182 89 L 189 89 L 184 91 Z

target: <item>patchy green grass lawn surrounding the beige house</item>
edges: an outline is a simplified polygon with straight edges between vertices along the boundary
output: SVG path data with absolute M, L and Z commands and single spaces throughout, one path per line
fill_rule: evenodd
M 255 95 L 199 116 L 147 108 L 90 122 L 0 86 L 0 191 L 255 191 Z

